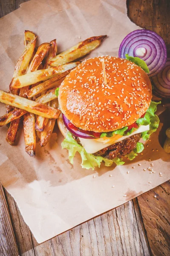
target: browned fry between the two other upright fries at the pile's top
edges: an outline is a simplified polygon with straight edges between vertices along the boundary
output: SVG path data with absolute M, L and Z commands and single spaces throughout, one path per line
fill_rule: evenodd
M 34 58 L 32 59 L 29 65 L 29 69 L 27 73 L 33 72 L 38 69 L 41 61 L 45 57 L 50 47 L 51 47 L 51 44 L 49 43 L 43 43 L 38 47 L 37 52 L 35 53 Z

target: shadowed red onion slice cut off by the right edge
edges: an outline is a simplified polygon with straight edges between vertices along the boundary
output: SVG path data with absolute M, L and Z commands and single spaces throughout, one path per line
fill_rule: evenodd
M 170 99 L 170 58 L 167 58 L 164 69 L 152 77 L 152 81 L 154 85 L 153 93 L 156 96 Z

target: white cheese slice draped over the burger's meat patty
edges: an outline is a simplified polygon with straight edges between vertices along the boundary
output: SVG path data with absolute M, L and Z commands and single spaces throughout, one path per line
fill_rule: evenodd
M 86 150 L 86 152 L 89 154 L 93 154 L 93 153 L 95 153 L 103 148 L 106 148 L 110 145 L 113 145 L 121 140 L 127 139 L 128 137 L 130 137 L 134 134 L 138 134 L 138 133 L 141 133 L 144 131 L 149 131 L 149 129 L 150 129 L 149 125 L 140 125 L 139 128 L 137 130 L 134 130 L 133 133 L 131 133 L 130 135 L 122 136 L 121 138 L 118 138 L 118 139 L 115 137 L 115 141 L 112 140 L 112 142 L 109 142 L 109 143 L 97 141 L 98 139 L 89 140 L 89 139 L 84 139 L 84 138 L 80 138 L 80 137 L 79 137 L 79 140 L 81 142 L 81 145 Z

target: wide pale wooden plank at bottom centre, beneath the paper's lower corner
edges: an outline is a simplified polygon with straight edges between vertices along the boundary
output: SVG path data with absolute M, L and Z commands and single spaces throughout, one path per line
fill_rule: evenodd
M 7 198 L 21 255 L 150 255 L 138 205 L 133 201 L 38 245 L 8 193 Z

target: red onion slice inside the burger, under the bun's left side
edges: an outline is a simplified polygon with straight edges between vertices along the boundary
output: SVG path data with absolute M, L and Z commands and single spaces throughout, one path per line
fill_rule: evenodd
M 64 125 L 66 125 L 66 128 L 73 134 L 75 135 L 76 137 L 80 137 L 80 138 L 84 138 L 84 139 L 96 139 L 97 137 L 92 137 L 90 136 L 88 133 L 93 133 L 93 132 L 88 132 L 88 131 L 80 131 L 79 128 L 77 129 L 74 129 L 74 128 L 70 128 L 69 127 L 69 124 L 71 123 L 69 121 L 69 119 L 66 118 L 66 116 L 62 115 L 63 116 L 63 122 L 64 122 Z M 98 134 L 98 138 L 100 137 L 101 133 L 94 133 L 94 134 Z

